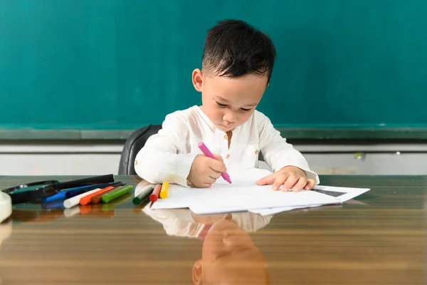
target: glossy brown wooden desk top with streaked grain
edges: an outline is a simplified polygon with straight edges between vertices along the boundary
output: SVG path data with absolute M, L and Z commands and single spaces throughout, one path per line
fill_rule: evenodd
M 0 187 L 45 178 L 0 177 Z M 116 180 L 139 182 L 137 177 Z M 426 284 L 427 177 L 321 180 L 372 190 L 338 207 L 273 217 L 236 214 L 233 220 L 243 226 L 227 217 L 204 240 L 197 238 L 200 228 L 194 224 L 199 223 L 176 218 L 191 218 L 188 210 L 156 217 L 163 219 L 168 235 L 153 213 L 134 207 L 129 196 L 112 207 L 82 207 L 69 217 L 63 209 L 21 205 L 1 224 L 0 277 L 3 284 L 19 285 L 193 284 L 203 264 L 205 280 L 233 279 L 227 284 L 263 284 L 265 276 L 270 284 Z M 243 227 L 259 229 L 247 235 Z M 226 228 L 229 235 L 223 239 Z M 222 240 L 233 248 L 231 257 L 218 245 Z M 208 261 L 213 250 L 221 252 L 216 263 Z

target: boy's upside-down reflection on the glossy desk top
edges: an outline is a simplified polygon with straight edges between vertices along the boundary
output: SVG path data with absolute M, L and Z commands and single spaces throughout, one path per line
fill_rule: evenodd
M 267 225 L 273 216 L 250 212 L 198 216 L 189 209 L 142 209 L 163 224 L 168 235 L 204 240 L 194 263 L 194 284 L 268 284 L 266 263 L 248 232 Z

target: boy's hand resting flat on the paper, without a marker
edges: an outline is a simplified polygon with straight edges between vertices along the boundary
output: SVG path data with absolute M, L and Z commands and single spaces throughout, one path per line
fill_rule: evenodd
M 281 170 L 274 172 L 271 175 L 263 177 L 256 182 L 257 185 L 270 185 L 273 183 L 273 190 L 278 190 L 283 185 L 282 191 L 292 189 L 298 192 L 302 189 L 312 190 L 316 182 L 312 179 L 307 179 L 305 172 L 295 166 L 283 167 Z

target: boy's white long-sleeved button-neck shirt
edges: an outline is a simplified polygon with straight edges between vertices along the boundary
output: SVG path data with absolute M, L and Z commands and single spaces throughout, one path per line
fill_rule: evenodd
M 135 158 L 135 172 L 150 183 L 168 181 L 189 187 L 187 177 L 203 141 L 212 153 L 221 155 L 227 171 L 250 170 L 258 167 L 258 155 L 273 171 L 285 166 L 305 170 L 309 179 L 319 183 L 319 177 L 310 170 L 300 152 L 286 142 L 270 120 L 258 110 L 243 125 L 233 130 L 230 148 L 225 132 L 199 108 L 193 106 L 166 116 L 162 129 L 152 135 Z

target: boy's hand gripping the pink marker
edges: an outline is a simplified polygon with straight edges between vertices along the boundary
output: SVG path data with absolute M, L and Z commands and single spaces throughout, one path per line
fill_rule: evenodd
M 214 155 L 216 160 L 205 155 L 197 155 L 191 165 L 187 180 L 195 187 L 208 188 L 226 172 L 226 165 L 221 155 Z

